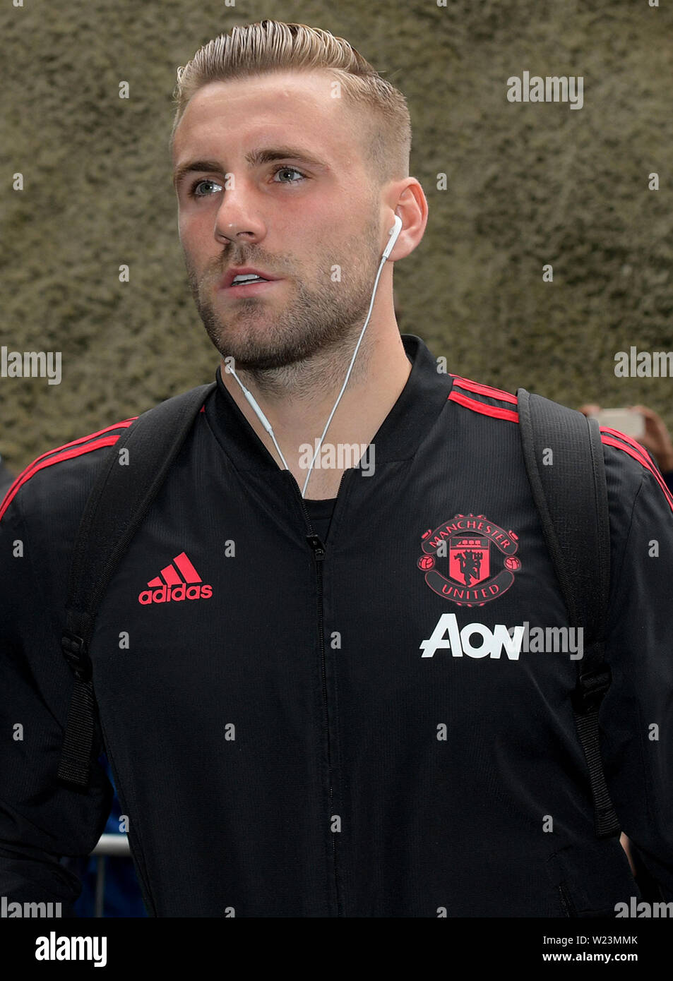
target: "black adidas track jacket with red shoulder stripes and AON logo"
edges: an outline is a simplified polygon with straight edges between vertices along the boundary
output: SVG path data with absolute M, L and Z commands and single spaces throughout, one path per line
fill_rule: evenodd
M 344 473 L 324 552 L 315 505 L 218 369 L 103 598 L 97 747 L 150 915 L 614 916 L 642 899 L 618 838 L 595 838 L 578 660 L 546 640 L 568 621 L 516 397 L 403 342 L 411 375 L 374 473 Z M 0 895 L 13 901 L 70 908 L 79 883 L 59 856 L 89 852 L 109 813 L 100 765 L 85 794 L 56 783 L 73 690 L 60 637 L 79 517 L 129 422 L 38 458 L 1 508 Z M 639 443 L 602 438 L 601 750 L 623 830 L 673 901 L 672 499 Z

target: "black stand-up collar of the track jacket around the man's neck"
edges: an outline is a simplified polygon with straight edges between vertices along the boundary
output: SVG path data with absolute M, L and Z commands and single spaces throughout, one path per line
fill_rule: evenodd
M 404 350 L 412 362 L 411 372 L 397 401 L 372 440 L 377 463 L 407 460 L 414 455 L 437 421 L 451 390 L 452 378 L 437 370 L 428 346 L 414 334 L 403 334 Z M 242 414 L 222 381 L 221 366 L 215 375 L 217 387 L 205 406 L 208 423 L 237 470 L 278 472 L 279 465 Z M 330 431 L 326 440 L 329 439 Z

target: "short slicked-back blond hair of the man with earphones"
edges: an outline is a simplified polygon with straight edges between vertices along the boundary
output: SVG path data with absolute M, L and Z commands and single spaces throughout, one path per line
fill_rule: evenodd
M 348 41 L 305 24 L 260 21 L 236 26 L 200 47 L 178 69 L 171 144 L 189 99 L 208 82 L 319 69 L 334 75 L 344 100 L 360 114 L 363 157 L 374 184 L 408 177 L 411 119 L 402 93 Z

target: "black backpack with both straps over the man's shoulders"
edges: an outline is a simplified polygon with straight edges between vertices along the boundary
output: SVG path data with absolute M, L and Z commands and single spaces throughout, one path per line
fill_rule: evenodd
M 58 777 L 88 786 L 95 698 L 89 644 L 100 600 L 149 510 L 197 413 L 216 383 L 192 388 L 148 409 L 110 447 L 86 501 L 75 543 L 61 645 L 75 673 Z M 525 388 L 517 391 L 528 479 L 543 524 L 570 626 L 584 630 L 572 703 L 589 769 L 598 838 L 619 834 L 600 758 L 598 709 L 610 684 L 604 662 L 610 585 L 610 532 L 600 433 L 595 419 Z M 129 468 L 119 451 L 129 449 Z M 544 465 L 545 450 L 553 464 Z

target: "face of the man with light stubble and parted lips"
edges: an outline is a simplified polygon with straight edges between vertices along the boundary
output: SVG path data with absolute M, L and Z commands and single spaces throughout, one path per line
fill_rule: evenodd
M 384 212 L 359 116 L 331 97 L 332 83 L 325 72 L 210 82 L 176 131 L 189 284 L 208 336 L 236 368 L 294 364 L 364 324 Z M 279 279 L 230 290 L 221 281 L 232 266 Z

